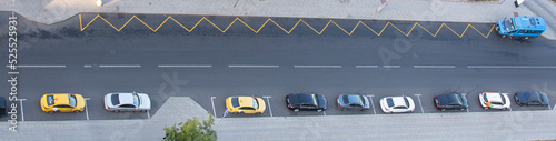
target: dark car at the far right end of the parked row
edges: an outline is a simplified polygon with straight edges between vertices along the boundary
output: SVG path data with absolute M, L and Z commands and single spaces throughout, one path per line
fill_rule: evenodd
M 516 92 L 514 95 L 517 105 L 548 105 L 548 97 L 543 92 Z

